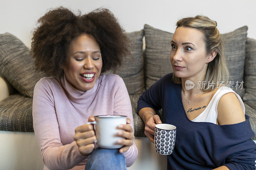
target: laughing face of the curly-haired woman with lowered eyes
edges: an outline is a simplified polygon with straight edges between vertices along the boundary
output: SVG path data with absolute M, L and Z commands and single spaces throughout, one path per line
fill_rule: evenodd
M 63 66 L 70 84 L 80 91 L 92 89 L 101 68 L 100 46 L 91 35 L 83 34 L 71 41 Z

